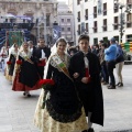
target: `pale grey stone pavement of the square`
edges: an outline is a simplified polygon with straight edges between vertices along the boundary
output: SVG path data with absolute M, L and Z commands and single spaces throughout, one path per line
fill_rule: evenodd
M 105 127 L 94 124 L 95 132 L 132 132 L 132 65 L 123 67 L 124 87 L 107 89 L 103 86 Z M 11 90 L 11 84 L 0 73 L 0 132 L 40 132 L 33 125 L 33 116 L 40 90 L 32 97 Z

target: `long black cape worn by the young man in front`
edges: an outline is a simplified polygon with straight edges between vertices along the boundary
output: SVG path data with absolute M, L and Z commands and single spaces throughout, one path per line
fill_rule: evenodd
M 69 72 L 72 76 L 74 73 L 79 74 L 79 77 L 75 79 L 75 82 L 78 88 L 79 97 L 84 103 L 86 114 L 88 114 L 88 111 L 92 112 L 91 122 L 103 125 L 103 98 L 99 78 L 99 59 L 92 53 L 88 53 L 86 56 L 89 61 L 89 74 L 91 77 L 91 81 L 89 84 L 86 85 L 81 82 L 81 78 L 85 77 L 85 62 L 82 52 L 78 52 L 70 58 Z

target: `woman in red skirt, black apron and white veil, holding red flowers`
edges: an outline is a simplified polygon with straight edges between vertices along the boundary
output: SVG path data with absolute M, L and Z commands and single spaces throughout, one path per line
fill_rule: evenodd
M 40 88 L 40 76 L 26 42 L 23 42 L 18 54 L 13 76 L 12 90 L 14 91 L 24 91 L 24 96 L 31 97 L 30 90 Z

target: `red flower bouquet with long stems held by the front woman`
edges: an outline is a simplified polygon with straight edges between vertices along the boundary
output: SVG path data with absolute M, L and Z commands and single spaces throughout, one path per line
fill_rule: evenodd
M 45 103 L 46 103 L 47 92 L 50 90 L 52 90 L 52 88 L 55 85 L 55 82 L 54 82 L 53 79 L 41 79 L 38 84 L 45 90 L 44 97 L 43 97 L 43 105 L 42 105 L 42 109 L 44 109 L 45 108 Z

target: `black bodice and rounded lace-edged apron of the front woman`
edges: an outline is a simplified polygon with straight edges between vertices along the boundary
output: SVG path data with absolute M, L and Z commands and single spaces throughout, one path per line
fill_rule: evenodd
M 51 97 L 46 101 L 50 116 L 59 122 L 73 122 L 81 116 L 81 102 L 76 92 L 74 82 L 56 66 L 51 58 L 46 78 L 55 81 Z

